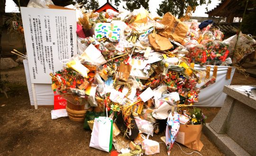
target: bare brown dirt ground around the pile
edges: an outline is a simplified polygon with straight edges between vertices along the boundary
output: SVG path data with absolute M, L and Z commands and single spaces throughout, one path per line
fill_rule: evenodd
M 1 75 L 4 76 L 5 74 L 8 74 L 6 79 L 9 81 L 8 87 L 11 90 L 8 92 L 8 99 L 0 94 L 0 156 L 110 155 L 107 152 L 89 147 L 91 131 L 83 130 L 82 123 L 74 123 L 68 118 L 52 120 L 50 113 L 52 108 L 35 110 L 30 107 L 22 65 L 14 69 L 2 70 Z M 256 84 L 256 79 L 245 79 L 236 73 L 232 84 L 241 83 Z M 207 122 L 210 122 L 218 111 L 219 108 L 203 109 L 203 112 L 208 116 Z M 160 143 L 160 154 L 155 156 L 167 156 L 166 146 L 160 139 L 164 135 L 164 133 L 154 134 L 152 138 Z M 200 152 L 203 156 L 223 155 L 204 134 L 201 136 L 201 141 L 204 144 Z M 180 146 L 186 153 L 193 151 L 183 145 Z M 186 156 L 176 144 L 171 155 Z

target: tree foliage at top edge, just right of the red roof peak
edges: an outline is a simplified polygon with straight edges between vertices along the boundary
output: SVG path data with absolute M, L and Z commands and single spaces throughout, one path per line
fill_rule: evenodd
M 115 2 L 115 5 L 118 7 L 120 5 L 121 0 L 110 0 L 110 2 Z M 140 6 L 144 7 L 148 10 L 148 2 L 149 0 L 122 0 L 126 3 L 126 7 L 124 9 L 128 9 L 129 11 L 133 11 L 134 9 L 139 9 Z

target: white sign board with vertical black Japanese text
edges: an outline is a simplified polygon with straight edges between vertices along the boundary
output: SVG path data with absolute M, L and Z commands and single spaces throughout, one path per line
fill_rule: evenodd
M 31 83 L 51 84 L 49 73 L 77 54 L 76 13 L 68 9 L 21 7 Z

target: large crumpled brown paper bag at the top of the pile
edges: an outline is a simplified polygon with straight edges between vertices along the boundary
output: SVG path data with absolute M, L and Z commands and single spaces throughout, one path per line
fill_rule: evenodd
M 172 40 L 185 44 L 184 38 L 188 32 L 188 26 L 186 26 L 178 18 L 174 17 L 170 12 L 167 12 L 161 24 L 165 25 L 166 28 L 163 32 L 159 34 L 165 36 L 166 38 L 171 38 Z

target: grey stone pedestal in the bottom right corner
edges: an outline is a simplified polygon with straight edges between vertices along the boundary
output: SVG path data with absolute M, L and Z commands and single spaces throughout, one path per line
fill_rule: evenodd
M 225 86 L 227 94 L 223 107 L 203 132 L 217 147 L 229 156 L 249 156 L 256 154 L 256 90 L 254 97 Z M 256 86 L 254 86 L 256 87 Z

